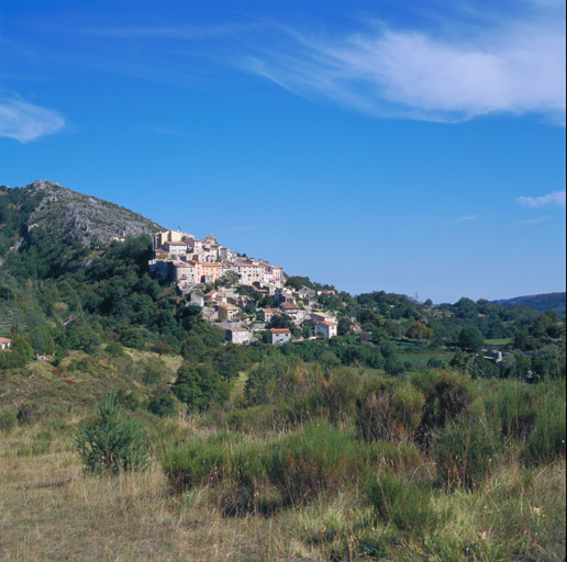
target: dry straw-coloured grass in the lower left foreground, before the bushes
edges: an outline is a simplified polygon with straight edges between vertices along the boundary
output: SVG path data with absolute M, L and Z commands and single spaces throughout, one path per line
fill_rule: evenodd
M 0 437 L 2 561 L 319 560 L 290 541 L 285 522 L 226 518 L 208 491 L 176 498 L 157 467 L 143 473 L 89 476 L 69 438 L 44 454 L 18 454 L 32 430 Z

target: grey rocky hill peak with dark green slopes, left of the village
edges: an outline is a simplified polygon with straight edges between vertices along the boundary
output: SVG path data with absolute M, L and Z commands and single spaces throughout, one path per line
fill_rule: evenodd
M 38 180 L 25 188 L 0 187 L 0 266 L 4 273 L 58 277 L 94 259 L 113 239 L 159 229 L 137 213 L 58 183 Z

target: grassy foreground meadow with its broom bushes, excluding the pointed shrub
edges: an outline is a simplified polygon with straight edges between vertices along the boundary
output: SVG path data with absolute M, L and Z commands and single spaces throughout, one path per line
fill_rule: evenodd
M 123 382 L 143 392 L 152 355 L 134 357 Z M 121 361 L 103 359 L 108 384 Z M 278 364 L 242 373 L 223 408 L 118 405 L 143 429 L 144 470 L 86 470 L 92 400 L 3 407 L 2 560 L 564 559 L 564 380 Z M 67 384 L 35 369 L 31 389 L 93 392 L 87 372 Z

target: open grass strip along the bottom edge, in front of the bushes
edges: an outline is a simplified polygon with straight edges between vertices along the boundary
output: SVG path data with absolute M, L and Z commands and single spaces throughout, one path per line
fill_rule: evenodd
M 169 424 L 178 432 L 198 431 L 194 420 Z M 448 516 L 436 528 L 419 538 L 375 526 L 374 550 L 365 554 L 367 539 L 357 527 L 369 508 L 354 485 L 271 517 L 226 517 L 214 488 L 173 494 L 157 459 L 145 472 L 85 474 L 71 445 L 75 428 L 76 422 L 57 429 L 41 424 L 0 438 L 3 561 L 307 562 L 337 560 L 337 546 L 342 560 L 559 561 L 565 555 L 564 460 L 537 470 L 509 460 L 475 492 L 437 491 L 433 508 Z

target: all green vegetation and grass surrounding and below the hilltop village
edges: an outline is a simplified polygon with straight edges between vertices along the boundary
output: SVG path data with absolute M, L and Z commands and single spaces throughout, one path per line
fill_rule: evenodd
M 564 560 L 565 318 L 294 277 L 340 335 L 234 346 L 36 188 L 0 194 L 5 560 Z

